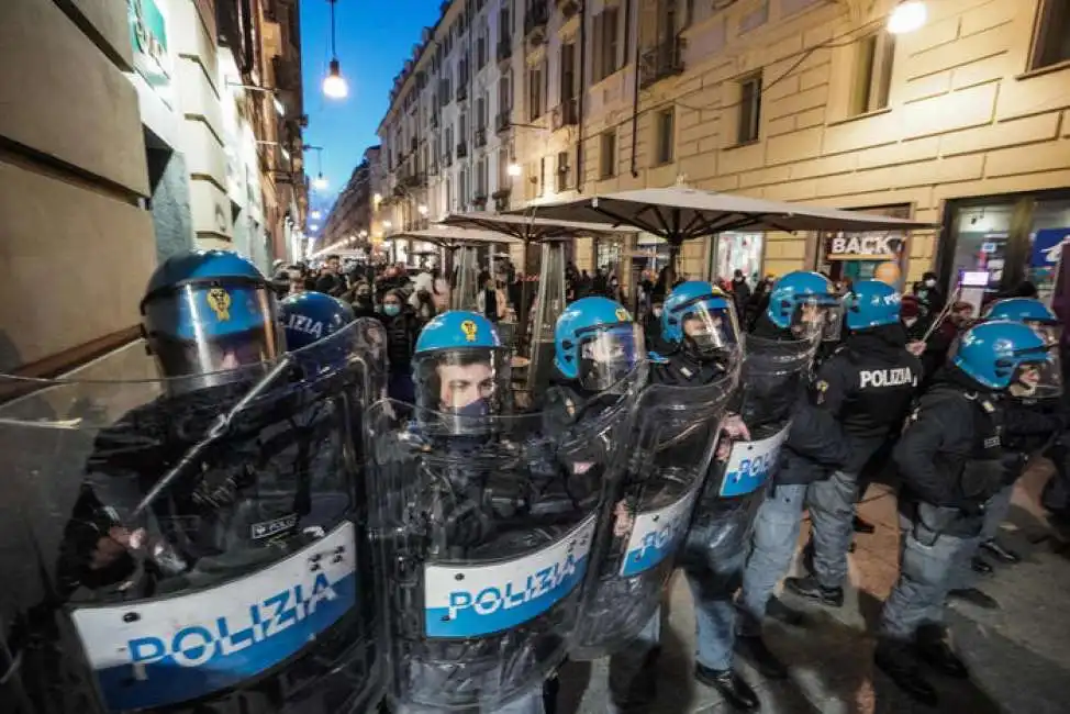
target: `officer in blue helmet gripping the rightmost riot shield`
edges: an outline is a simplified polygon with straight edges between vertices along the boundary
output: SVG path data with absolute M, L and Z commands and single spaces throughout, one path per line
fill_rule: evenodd
M 810 367 L 825 328 L 838 326 L 828 316 L 836 314 L 839 304 L 824 276 L 788 274 L 773 286 L 769 306 L 760 315 L 755 334 L 747 338 L 742 414 L 751 436 L 760 439 L 756 445 L 761 448 L 746 453 L 746 465 L 760 475 L 762 486 L 766 481 L 770 486 L 755 490 L 765 499 L 755 520 L 743 576 L 738 599 L 743 618 L 736 646 L 771 678 L 782 679 L 788 671 L 762 640 L 761 622 L 767 614 L 790 624 L 800 622 L 800 615 L 774 598 L 772 591 L 795 550 L 807 479 L 841 468 L 850 459 L 843 429 L 818 403 L 816 390 L 811 388 L 809 398 L 804 398 Z M 760 372 L 756 371 L 759 368 Z M 760 468 L 753 466 L 756 460 Z M 742 471 L 743 465 L 740 456 L 738 465 L 729 461 L 729 471 Z M 746 479 L 737 479 L 746 483 Z

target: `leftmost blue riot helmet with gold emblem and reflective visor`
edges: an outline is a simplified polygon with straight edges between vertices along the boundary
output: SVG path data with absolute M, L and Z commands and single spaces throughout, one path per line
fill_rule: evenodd
M 193 250 L 165 260 L 148 280 L 141 313 L 160 373 L 203 376 L 179 380 L 181 389 L 232 381 L 230 370 L 285 350 L 270 282 L 229 250 Z

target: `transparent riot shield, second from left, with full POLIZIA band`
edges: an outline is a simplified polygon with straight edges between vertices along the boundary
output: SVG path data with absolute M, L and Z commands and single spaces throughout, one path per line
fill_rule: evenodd
M 468 417 L 457 436 L 427 426 L 454 415 L 372 409 L 394 707 L 495 711 L 560 663 L 633 403 L 565 429 L 545 412 Z

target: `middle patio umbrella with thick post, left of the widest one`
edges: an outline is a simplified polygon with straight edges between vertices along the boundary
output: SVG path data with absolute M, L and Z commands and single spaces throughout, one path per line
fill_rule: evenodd
M 597 223 L 555 221 L 543 217 L 473 212 L 452 213 L 442 222 L 468 228 L 497 231 L 524 244 L 524 256 L 532 243 L 542 244 L 538 270 L 536 314 L 532 325 L 531 365 L 527 372 L 528 389 L 536 393 L 549 380 L 554 364 L 554 328 L 565 310 L 565 243 L 573 237 L 624 236 L 635 233 L 634 227 L 614 227 L 603 220 Z M 521 334 L 526 334 L 528 283 L 522 286 L 521 310 L 517 311 Z

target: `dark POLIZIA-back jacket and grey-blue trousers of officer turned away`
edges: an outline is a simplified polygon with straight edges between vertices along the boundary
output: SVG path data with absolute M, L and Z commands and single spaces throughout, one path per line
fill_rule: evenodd
M 847 576 L 858 475 L 906 416 L 922 377 L 921 360 L 905 344 L 898 322 L 856 333 L 822 367 L 814 387 L 816 403 L 835 415 L 851 453 L 843 468 L 811 484 L 806 495 L 814 576 L 824 589 L 841 588 Z

